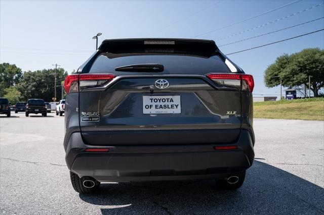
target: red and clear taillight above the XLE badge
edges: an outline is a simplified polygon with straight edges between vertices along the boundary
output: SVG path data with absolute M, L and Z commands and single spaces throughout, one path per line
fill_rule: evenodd
M 252 75 L 247 74 L 208 74 L 207 77 L 218 84 L 239 87 L 241 90 L 252 92 L 254 80 Z

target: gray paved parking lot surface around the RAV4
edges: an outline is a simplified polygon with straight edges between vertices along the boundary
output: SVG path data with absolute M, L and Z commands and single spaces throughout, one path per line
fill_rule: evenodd
M 104 184 L 94 195 L 70 184 L 63 122 L 0 118 L 1 213 L 324 213 L 322 121 L 255 120 L 256 159 L 237 191 L 200 180 Z

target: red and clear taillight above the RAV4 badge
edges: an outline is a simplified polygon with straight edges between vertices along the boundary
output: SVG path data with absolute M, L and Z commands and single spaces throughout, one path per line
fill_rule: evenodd
M 111 81 L 113 74 L 82 74 L 69 75 L 65 78 L 64 89 L 66 93 L 78 92 L 78 87 L 94 87 Z

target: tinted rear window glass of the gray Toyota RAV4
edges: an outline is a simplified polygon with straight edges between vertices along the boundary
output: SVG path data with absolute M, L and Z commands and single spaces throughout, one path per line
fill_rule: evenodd
M 102 53 L 92 65 L 90 73 L 116 73 L 115 68 L 134 64 L 161 64 L 165 74 L 206 74 L 209 72 L 230 72 L 219 56 L 212 57 L 145 54 L 129 55 Z M 118 72 L 120 74 L 121 72 Z M 125 72 L 124 72 L 125 73 Z

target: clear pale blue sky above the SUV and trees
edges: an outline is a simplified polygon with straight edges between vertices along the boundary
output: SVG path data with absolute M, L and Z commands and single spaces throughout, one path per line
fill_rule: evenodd
M 324 19 L 319 19 L 224 45 L 321 17 L 323 0 L 0 1 L 0 63 L 16 64 L 23 71 L 58 64 L 70 73 L 95 51 L 92 37 L 98 32 L 99 44 L 114 38 L 212 39 L 226 55 L 323 29 Z M 279 98 L 279 86 L 264 85 L 264 71 L 283 53 L 313 47 L 324 48 L 324 31 L 228 57 L 254 76 L 255 96 Z

